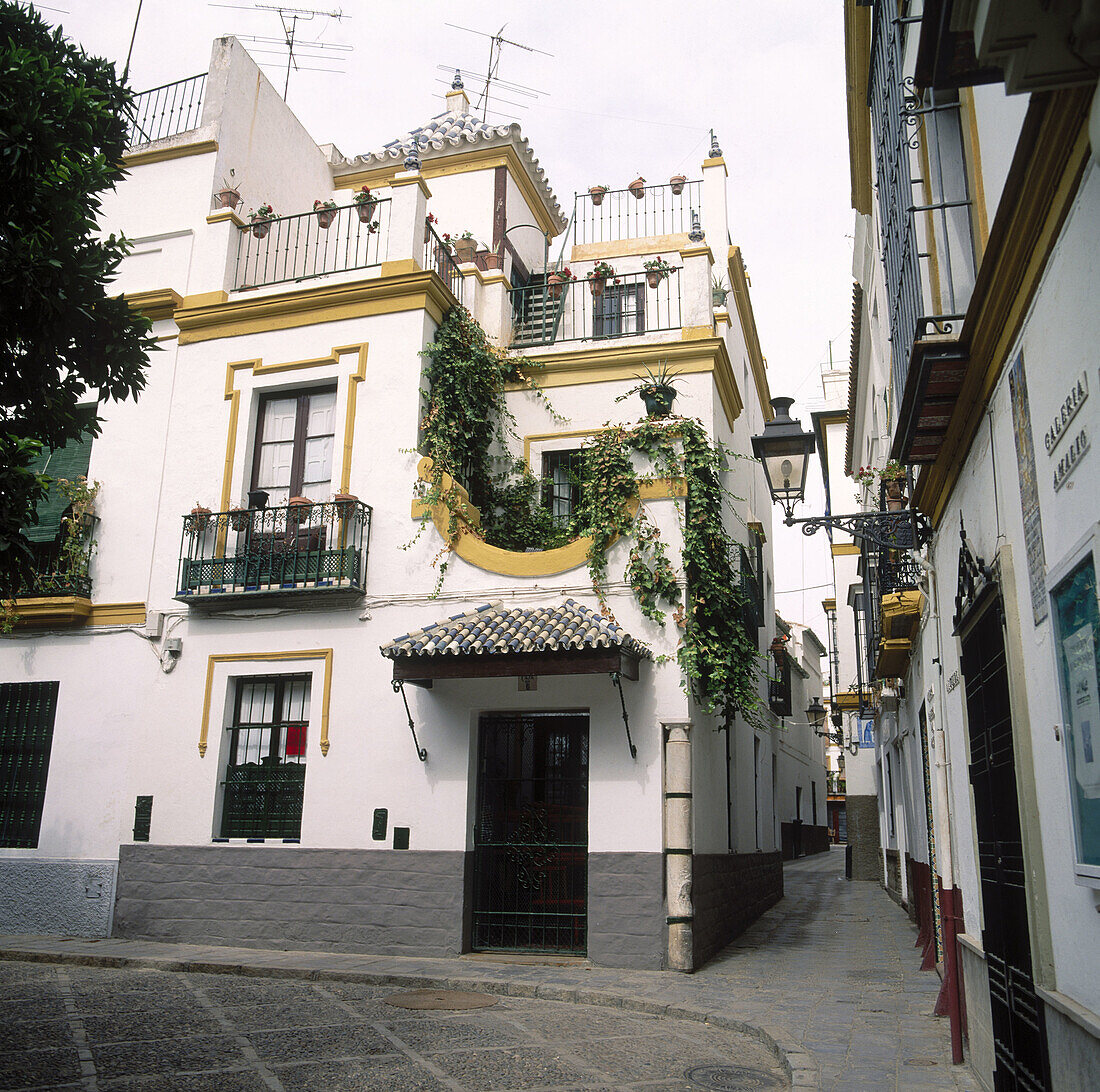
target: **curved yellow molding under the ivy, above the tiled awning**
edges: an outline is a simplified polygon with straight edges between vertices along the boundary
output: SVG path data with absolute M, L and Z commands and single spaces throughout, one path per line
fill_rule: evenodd
M 431 467 L 430 459 L 421 459 L 417 463 L 417 476 L 421 482 L 431 481 Z M 452 510 L 446 503 L 437 504 L 429 510 L 422 500 L 414 498 L 411 516 L 413 519 L 421 520 L 430 518 L 449 549 L 468 564 L 499 576 L 531 577 L 557 576 L 559 573 L 580 569 L 587 563 L 588 551 L 592 548 L 592 539 L 588 537 L 574 539 L 556 550 L 531 550 L 524 553 L 490 545 L 477 533 L 481 514 L 470 503 L 470 495 L 450 474 L 443 474 L 441 477 L 444 496 L 453 496 L 457 501 L 453 531 Z M 635 512 L 642 500 L 670 500 L 686 496 L 685 478 L 652 478 L 638 483 L 638 496 L 630 501 L 630 508 Z M 615 541 L 617 536 L 612 540 L 613 543 Z

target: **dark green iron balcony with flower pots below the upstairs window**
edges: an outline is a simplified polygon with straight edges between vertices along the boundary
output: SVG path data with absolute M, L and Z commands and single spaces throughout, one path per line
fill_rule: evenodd
M 331 606 L 365 589 L 371 507 L 359 500 L 184 517 L 176 596 L 198 610 L 311 597 Z

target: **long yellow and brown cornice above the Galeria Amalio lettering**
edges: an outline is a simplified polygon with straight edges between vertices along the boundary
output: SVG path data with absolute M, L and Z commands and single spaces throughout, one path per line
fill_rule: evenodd
M 963 386 L 936 461 L 924 467 L 914 493 L 934 527 L 947 511 L 981 409 L 1000 382 L 1088 166 L 1091 97 L 1091 88 L 1067 88 L 1033 97 L 1028 108 L 1031 154 L 1024 169 L 1009 174 L 963 322 L 969 350 Z M 1036 109 L 1042 113 L 1032 119 Z

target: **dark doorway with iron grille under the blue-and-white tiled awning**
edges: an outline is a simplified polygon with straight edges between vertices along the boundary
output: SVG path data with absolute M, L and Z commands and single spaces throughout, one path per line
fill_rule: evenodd
M 481 718 L 472 947 L 586 950 L 588 718 Z

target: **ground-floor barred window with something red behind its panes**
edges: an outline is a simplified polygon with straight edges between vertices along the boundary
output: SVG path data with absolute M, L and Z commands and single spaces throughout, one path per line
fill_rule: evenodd
M 301 836 L 311 676 L 237 681 L 227 728 L 222 838 Z

